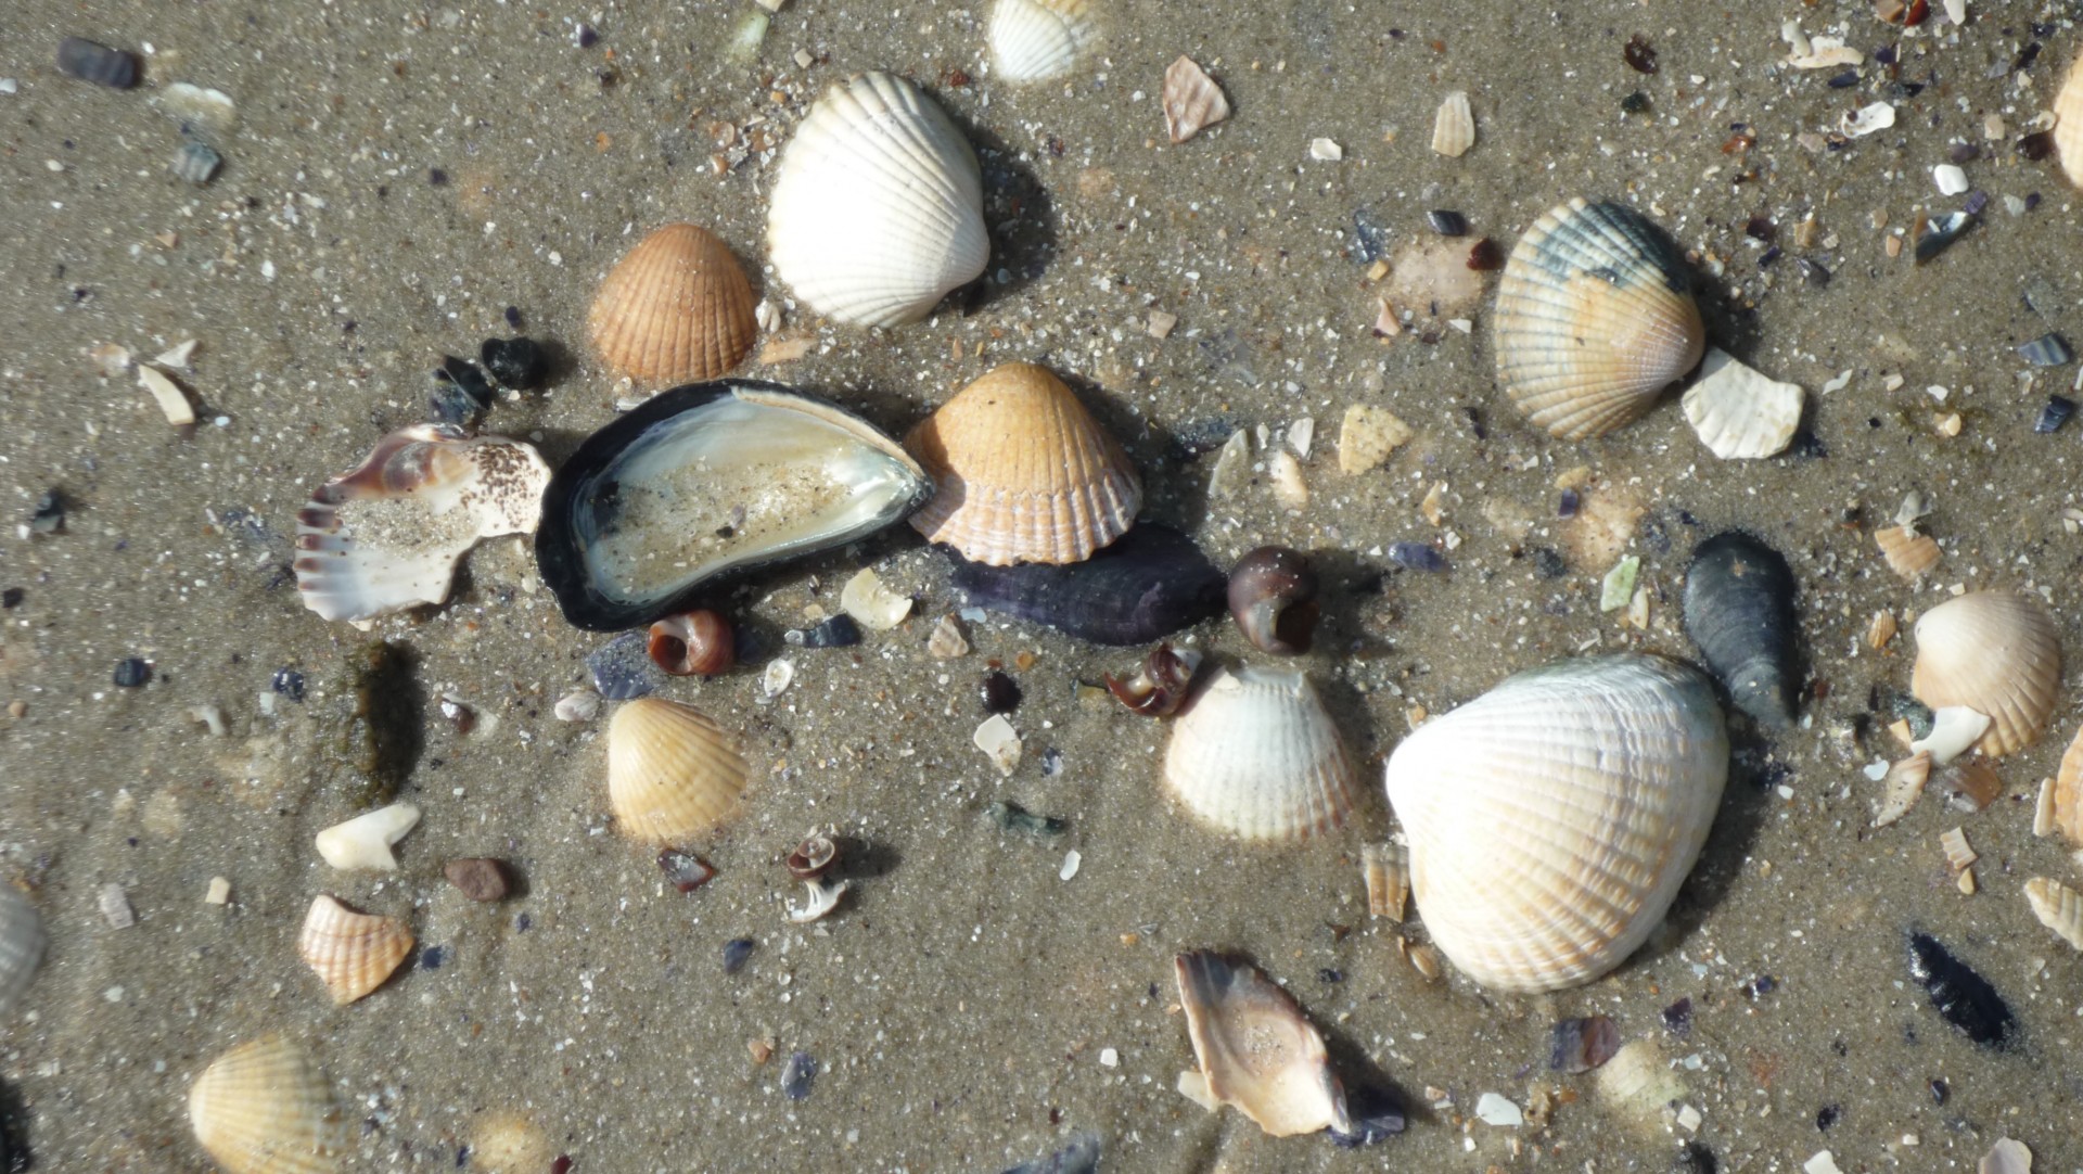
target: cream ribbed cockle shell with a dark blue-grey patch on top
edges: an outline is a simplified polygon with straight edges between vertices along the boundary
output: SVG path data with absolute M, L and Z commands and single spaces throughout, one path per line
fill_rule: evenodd
M 1704 348 L 1677 246 L 1633 208 L 1571 200 L 1535 221 L 1504 264 L 1498 379 L 1562 439 L 1641 416 Z

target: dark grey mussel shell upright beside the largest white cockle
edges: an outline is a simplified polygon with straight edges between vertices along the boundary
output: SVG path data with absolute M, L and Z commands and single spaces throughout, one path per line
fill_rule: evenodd
M 1685 633 L 1739 710 L 1793 724 L 1793 572 L 1777 550 L 1729 531 L 1700 543 L 1685 570 Z

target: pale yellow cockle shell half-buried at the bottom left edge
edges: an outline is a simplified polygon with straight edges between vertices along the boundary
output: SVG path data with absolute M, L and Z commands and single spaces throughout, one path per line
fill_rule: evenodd
M 352 1149 L 333 1089 L 279 1035 L 210 1062 L 187 1087 L 187 1124 L 229 1174 L 335 1174 Z

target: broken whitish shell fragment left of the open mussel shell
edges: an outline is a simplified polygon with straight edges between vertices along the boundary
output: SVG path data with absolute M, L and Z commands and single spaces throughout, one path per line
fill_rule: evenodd
M 448 597 L 481 539 L 535 533 L 550 466 L 521 441 L 412 425 L 296 514 L 296 589 L 327 620 L 367 620 Z

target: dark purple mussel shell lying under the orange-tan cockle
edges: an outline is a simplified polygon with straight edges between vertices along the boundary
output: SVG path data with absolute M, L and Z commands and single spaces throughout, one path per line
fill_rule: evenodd
M 1139 525 L 1085 562 L 985 566 L 952 550 L 969 602 L 1091 643 L 1137 645 L 1221 614 L 1227 579 L 1183 533 Z

